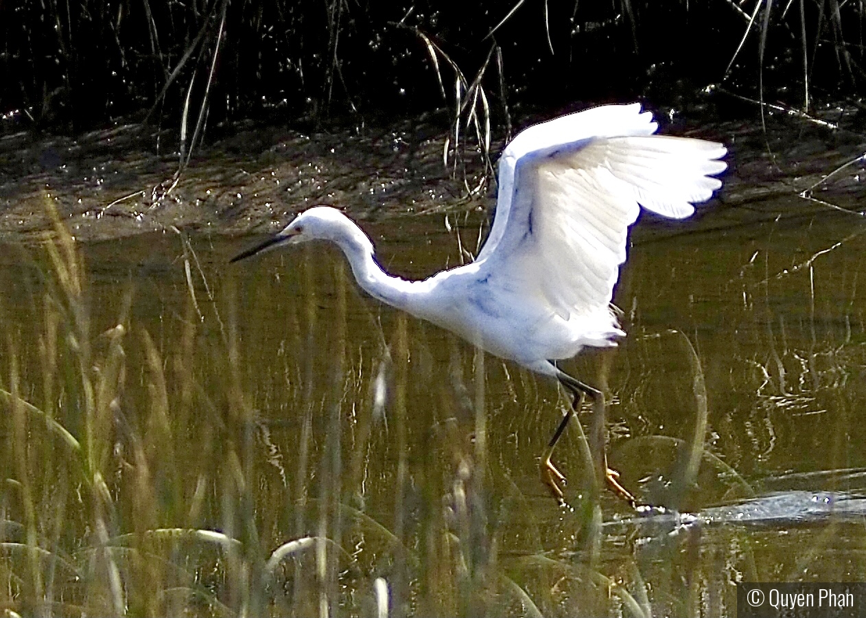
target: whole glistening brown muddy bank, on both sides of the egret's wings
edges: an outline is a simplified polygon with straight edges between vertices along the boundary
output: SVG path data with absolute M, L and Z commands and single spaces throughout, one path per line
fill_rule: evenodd
M 829 208 L 856 209 L 863 194 L 863 162 L 856 158 L 866 151 L 866 138 L 855 131 L 784 116 L 770 117 L 766 134 L 757 119 L 675 121 L 662 131 L 728 146 L 721 204 L 795 197 L 813 188 L 810 195 Z M 14 132 L 0 138 L 0 239 L 39 238 L 48 229 L 46 200 L 80 241 L 172 226 L 264 233 L 322 203 L 361 220 L 437 209 L 492 211 L 494 183 L 485 182 L 484 157 L 464 151 L 455 158 L 452 151 L 446 166 L 448 135 L 445 123 L 418 120 L 363 132 L 245 126 L 197 151 L 168 190 L 178 170 L 170 132 L 143 134 L 132 124 L 79 138 Z M 491 146 L 493 164 L 501 144 Z

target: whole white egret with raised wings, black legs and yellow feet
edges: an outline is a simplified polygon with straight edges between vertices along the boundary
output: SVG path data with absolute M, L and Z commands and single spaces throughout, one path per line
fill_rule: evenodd
M 367 293 L 417 318 L 456 332 L 498 357 L 554 377 L 572 393 L 541 459 L 543 480 L 561 499 L 565 477 L 553 447 L 582 394 L 604 413 L 598 389 L 559 370 L 555 361 L 586 346 L 616 345 L 624 336 L 612 311 L 613 287 L 625 261 L 626 236 L 640 206 L 683 219 L 708 200 L 727 168 L 727 150 L 702 139 L 654 135 L 658 126 L 639 103 L 600 106 L 528 128 L 503 151 L 499 194 L 488 239 L 475 261 L 429 279 L 408 281 L 382 270 L 370 239 L 337 209 L 316 206 L 280 233 L 244 251 L 321 239 L 346 254 Z M 604 441 L 601 442 L 602 445 Z M 601 454 L 607 481 L 634 504 Z

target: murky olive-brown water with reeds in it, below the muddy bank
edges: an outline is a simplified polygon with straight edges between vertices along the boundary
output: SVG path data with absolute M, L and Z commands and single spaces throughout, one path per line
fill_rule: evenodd
M 568 370 L 607 383 L 625 486 L 714 513 L 675 533 L 593 509 L 574 427 L 557 508 L 537 457 L 565 396 L 363 297 L 334 248 L 229 267 L 241 241 L 92 244 L 78 292 L 43 252 L 5 252 L 3 602 L 375 615 L 382 578 L 392 615 L 730 615 L 739 580 L 863 580 L 862 519 L 807 508 L 864 488 L 846 217 L 716 205 L 632 236 L 629 337 Z M 460 223 L 472 247 L 481 219 Z M 397 274 L 461 260 L 442 216 L 365 229 Z M 763 525 L 711 508 L 770 492 L 787 500 Z

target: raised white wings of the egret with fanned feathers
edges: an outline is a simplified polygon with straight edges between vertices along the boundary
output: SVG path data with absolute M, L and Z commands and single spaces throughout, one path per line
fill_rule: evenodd
M 496 216 L 478 274 L 565 320 L 607 312 L 629 226 L 645 209 L 695 212 L 727 167 L 721 144 L 653 135 L 640 104 L 530 127 L 502 154 Z M 492 281 L 491 281 L 492 282 Z

